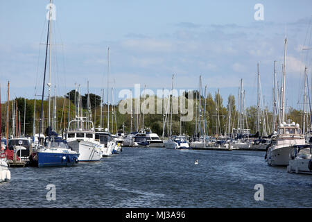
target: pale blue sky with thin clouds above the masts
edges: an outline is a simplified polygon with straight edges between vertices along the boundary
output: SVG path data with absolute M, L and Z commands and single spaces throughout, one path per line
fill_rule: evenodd
M 1 101 L 42 94 L 49 1 L 0 1 Z M 243 78 L 246 106 L 257 104 L 257 63 L 264 103 L 272 107 L 274 61 L 281 85 L 287 37 L 286 103 L 302 108 L 304 67 L 311 82 L 312 1 L 60 1 L 54 0 L 51 83 L 58 96 L 80 92 L 107 96 L 107 48 L 114 101 L 135 84 L 148 89 L 202 86 L 237 96 Z M 263 20 L 254 18 L 257 3 Z M 49 79 L 49 65 L 46 78 Z M 312 82 L 311 82 L 312 83 Z M 312 84 L 310 84 L 312 85 Z M 47 87 L 45 87 L 45 95 Z M 311 89 L 310 89 L 311 91 Z M 39 99 L 39 97 L 38 97 Z

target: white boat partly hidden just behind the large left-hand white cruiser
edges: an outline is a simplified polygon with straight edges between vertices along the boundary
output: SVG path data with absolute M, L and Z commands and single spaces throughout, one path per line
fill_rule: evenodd
M 110 133 L 102 131 L 96 132 L 95 139 L 101 144 L 102 157 L 107 157 L 114 153 L 116 142 Z

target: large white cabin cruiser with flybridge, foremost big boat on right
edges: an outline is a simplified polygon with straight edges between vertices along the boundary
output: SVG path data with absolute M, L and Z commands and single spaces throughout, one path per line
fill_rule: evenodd
M 298 123 L 281 123 L 277 130 L 277 136 L 271 140 L 267 148 L 265 159 L 268 165 L 287 166 L 293 148 L 304 145 L 306 145 L 306 141 Z

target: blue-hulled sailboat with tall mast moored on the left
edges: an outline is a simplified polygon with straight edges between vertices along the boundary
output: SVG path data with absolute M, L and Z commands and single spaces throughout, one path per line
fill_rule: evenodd
M 44 86 L 46 79 L 46 62 L 48 46 L 50 52 L 50 83 L 49 86 L 49 108 L 50 108 L 50 87 L 51 87 L 51 21 L 52 21 L 52 1 L 50 0 L 50 12 L 48 22 L 48 32 L 46 37 L 46 56 L 44 63 L 44 78 L 42 87 L 42 101 L 41 101 L 41 112 L 40 112 L 40 126 L 38 142 L 35 144 L 32 155 L 29 157 L 30 164 L 35 167 L 67 167 L 73 166 L 78 163 L 79 153 L 69 149 L 67 141 L 58 137 L 58 134 L 53 132 L 50 126 L 50 110 L 49 110 L 49 127 L 46 128 L 46 137 L 44 141 L 41 139 L 42 135 L 42 114 L 43 114 L 43 101 L 44 101 Z

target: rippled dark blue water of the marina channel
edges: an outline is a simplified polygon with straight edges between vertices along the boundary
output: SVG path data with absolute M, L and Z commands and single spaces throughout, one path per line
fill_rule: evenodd
M 312 176 L 268 167 L 264 155 L 123 148 L 77 167 L 11 168 L 0 207 L 311 207 Z M 46 200 L 48 184 L 55 201 Z M 263 201 L 254 200 L 256 184 Z

